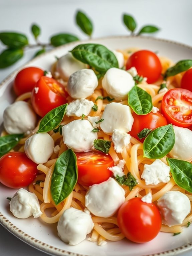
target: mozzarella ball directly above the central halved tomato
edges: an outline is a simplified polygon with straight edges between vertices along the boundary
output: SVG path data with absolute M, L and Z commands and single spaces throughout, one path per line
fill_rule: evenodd
M 88 120 L 74 120 L 62 127 L 64 144 L 75 152 L 86 152 L 93 149 L 93 141 L 98 138 L 97 132 L 92 132 Z

